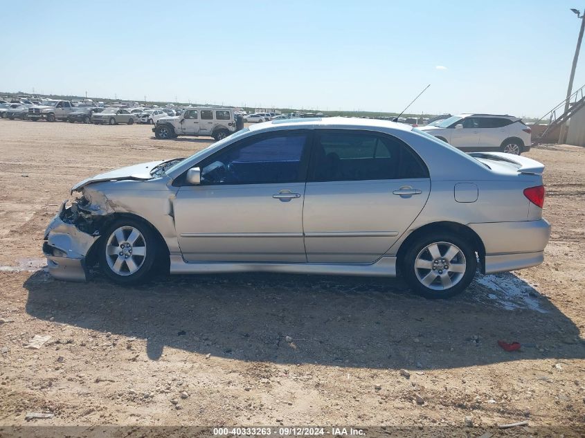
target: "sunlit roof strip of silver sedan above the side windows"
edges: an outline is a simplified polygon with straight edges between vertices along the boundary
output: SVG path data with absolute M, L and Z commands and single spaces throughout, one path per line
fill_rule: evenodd
M 311 118 L 289 118 L 282 120 L 272 120 L 271 122 L 258 123 L 249 127 L 250 131 L 259 131 L 267 129 L 272 126 L 283 127 L 330 127 L 330 128 L 348 128 L 359 129 L 363 128 L 386 128 L 399 129 L 401 131 L 412 131 L 411 125 L 404 125 L 404 123 L 390 122 L 387 120 L 356 118 L 356 117 L 311 117 Z

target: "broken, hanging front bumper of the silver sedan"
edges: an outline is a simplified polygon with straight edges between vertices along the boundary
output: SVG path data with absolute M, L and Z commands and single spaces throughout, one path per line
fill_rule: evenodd
M 87 280 L 85 258 L 99 235 L 90 235 L 66 222 L 65 202 L 45 231 L 43 253 L 48 271 L 59 280 Z

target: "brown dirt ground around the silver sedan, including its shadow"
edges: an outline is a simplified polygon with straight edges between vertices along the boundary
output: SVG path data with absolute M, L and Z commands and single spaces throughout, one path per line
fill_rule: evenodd
M 584 430 L 585 149 L 527 154 L 546 164 L 545 263 L 480 276 L 452 300 L 395 279 L 178 276 L 133 289 L 44 272 L 44 228 L 73 183 L 210 141 L 0 120 L 0 426 Z M 35 335 L 51 338 L 27 348 Z

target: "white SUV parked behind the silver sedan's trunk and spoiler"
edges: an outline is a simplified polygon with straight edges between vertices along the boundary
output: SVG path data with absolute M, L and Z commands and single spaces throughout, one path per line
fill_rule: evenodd
M 520 155 L 530 150 L 531 130 L 521 118 L 460 114 L 419 128 L 464 152 L 500 151 Z

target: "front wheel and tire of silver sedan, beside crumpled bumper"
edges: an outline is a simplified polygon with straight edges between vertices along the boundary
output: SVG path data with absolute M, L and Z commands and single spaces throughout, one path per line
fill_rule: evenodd
M 113 282 L 139 284 L 153 273 L 157 249 L 158 241 L 147 223 L 133 218 L 118 219 L 102 234 L 100 268 Z

